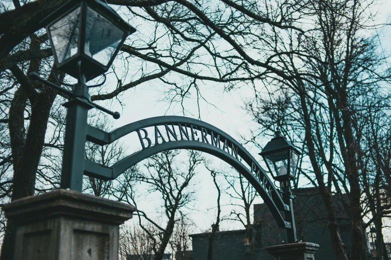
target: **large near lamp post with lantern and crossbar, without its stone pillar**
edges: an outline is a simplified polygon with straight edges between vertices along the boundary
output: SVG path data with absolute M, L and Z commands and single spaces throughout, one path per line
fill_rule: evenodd
M 78 82 L 69 92 L 40 78 L 36 72 L 29 77 L 68 97 L 69 101 L 63 104 L 67 115 L 60 187 L 81 191 L 88 110 L 97 108 L 114 119 L 120 117 L 118 112 L 92 103 L 85 83 L 104 76 L 126 37 L 136 29 L 101 0 L 69 0 L 40 23 L 46 27 L 57 69 Z

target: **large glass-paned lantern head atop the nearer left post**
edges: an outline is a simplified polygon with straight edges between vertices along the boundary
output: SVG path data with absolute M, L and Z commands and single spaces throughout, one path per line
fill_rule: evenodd
M 101 0 L 69 0 L 44 20 L 56 66 L 86 81 L 105 73 L 136 29 Z M 77 66 L 81 61 L 81 66 Z

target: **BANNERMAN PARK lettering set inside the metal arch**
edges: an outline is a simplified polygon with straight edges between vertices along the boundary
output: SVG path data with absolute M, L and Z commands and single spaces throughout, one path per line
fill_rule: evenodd
M 148 132 L 149 130 L 149 132 Z M 195 125 L 181 125 L 173 123 L 170 125 L 154 126 L 147 129 L 136 130 L 142 149 L 147 149 L 151 146 L 156 146 L 166 142 L 176 141 L 197 141 L 215 146 L 235 159 L 242 161 L 238 147 L 230 140 L 220 134 L 214 133 L 212 130 Z M 261 183 L 268 196 L 272 198 L 272 183 L 262 173 L 257 164 L 252 162 L 250 172 Z

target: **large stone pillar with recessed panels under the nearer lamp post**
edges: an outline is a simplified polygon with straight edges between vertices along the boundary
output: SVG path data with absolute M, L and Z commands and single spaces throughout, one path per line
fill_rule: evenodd
M 119 225 L 136 211 L 132 205 L 63 189 L 2 208 L 17 226 L 14 260 L 117 260 Z

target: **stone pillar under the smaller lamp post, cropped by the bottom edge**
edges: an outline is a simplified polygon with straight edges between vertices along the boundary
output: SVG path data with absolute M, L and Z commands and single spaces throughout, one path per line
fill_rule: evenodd
M 315 260 L 315 252 L 319 245 L 313 243 L 291 243 L 273 247 L 266 250 L 276 260 Z

